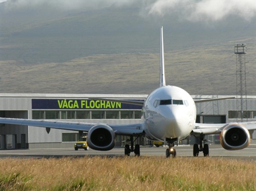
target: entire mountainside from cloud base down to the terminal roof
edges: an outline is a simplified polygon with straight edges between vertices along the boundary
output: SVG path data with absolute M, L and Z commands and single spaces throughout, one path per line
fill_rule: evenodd
M 143 2 L 93 9 L 53 2 L 1 3 L 0 92 L 148 94 L 158 87 L 164 26 L 167 84 L 236 94 L 234 46 L 247 43 L 247 94 L 256 95 L 255 19 L 195 22 L 144 14 Z

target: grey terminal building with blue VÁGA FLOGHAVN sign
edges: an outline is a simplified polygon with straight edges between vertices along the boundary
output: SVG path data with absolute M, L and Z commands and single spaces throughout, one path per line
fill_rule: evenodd
M 147 95 L 129 94 L 5 94 L 0 93 L 0 116 L 5 118 L 68 120 L 85 123 L 131 124 L 141 123 L 141 106 L 93 98 L 144 100 Z M 194 99 L 227 97 L 224 95 L 192 95 Z M 235 96 L 234 96 L 235 97 Z M 256 96 L 247 96 L 247 109 L 236 110 L 236 99 L 197 103 L 197 123 L 230 123 L 256 121 Z M 246 114 L 246 115 L 245 115 Z M 246 116 L 246 118 L 244 117 Z M 25 148 L 71 148 L 80 138 L 77 131 L 34 126 L 0 124 L 0 149 Z M 129 137 L 117 136 L 116 146 L 123 146 Z M 256 140 L 256 131 L 251 134 Z M 213 143 L 220 143 L 218 135 L 208 136 Z M 182 144 L 194 144 L 195 138 L 183 140 Z M 150 145 L 146 138 L 137 140 Z

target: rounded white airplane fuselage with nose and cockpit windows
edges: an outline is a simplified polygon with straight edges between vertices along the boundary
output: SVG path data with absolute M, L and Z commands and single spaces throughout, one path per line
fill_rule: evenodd
M 182 140 L 195 126 L 195 102 L 188 92 L 175 86 L 154 90 L 144 103 L 144 130 L 148 138 Z

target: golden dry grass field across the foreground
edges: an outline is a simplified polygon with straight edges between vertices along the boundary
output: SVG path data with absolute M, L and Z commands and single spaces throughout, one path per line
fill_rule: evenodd
M 0 160 L 0 190 L 256 190 L 256 162 L 124 157 Z

